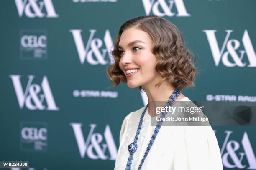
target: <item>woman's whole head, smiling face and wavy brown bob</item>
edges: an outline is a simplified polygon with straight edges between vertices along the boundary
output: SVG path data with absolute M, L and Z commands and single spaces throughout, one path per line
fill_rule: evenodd
M 112 86 L 122 81 L 134 88 L 149 80 L 154 81 L 157 87 L 165 81 L 178 89 L 194 86 L 197 71 L 195 60 L 192 61 L 193 55 L 184 47 L 178 28 L 164 18 L 147 16 L 125 22 L 115 38 L 112 55 L 115 64 L 107 70 L 114 83 Z M 143 82 L 128 79 L 133 77 L 126 73 L 129 69 L 140 69 L 136 80 L 141 80 L 139 76 L 143 76 Z M 154 74 L 149 75 L 148 72 Z M 138 87 L 146 90 L 146 86 Z

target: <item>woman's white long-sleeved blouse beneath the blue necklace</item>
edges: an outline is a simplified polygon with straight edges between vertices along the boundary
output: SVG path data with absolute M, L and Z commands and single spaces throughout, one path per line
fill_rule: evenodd
M 190 101 L 188 97 L 181 100 Z M 120 146 L 114 170 L 125 170 L 128 145 L 133 142 L 146 106 L 128 114 L 120 130 Z M 156 126 L 146 111 L 133 154 L 131 170 L 137 170 Z M 141 170 L 223 170 L 220 148 L 211 126 L 161 126 Z

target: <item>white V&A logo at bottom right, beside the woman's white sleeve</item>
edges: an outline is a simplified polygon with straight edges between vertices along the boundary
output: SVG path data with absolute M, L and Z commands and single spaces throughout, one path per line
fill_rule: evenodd
M 247 168 L 248 170 L 256 170 L 256 159 L 247 132 L 243 133 L 243 138 L 241 140 L 242 145 L 240 145 L 236 140 L 229 140 L 229 137 L 233 131 L 227 130 L 225 133 L 226 137 L 220 150 L 223 165 L 226 168 Z M 240 146 L 243 147 L 244 152 L 239 152 L 238 155 Z M 224 153 L 225 149 L 227 151 L 226 153 Z M 243 161 L 244 159 L 247 159 L 247 161 Z

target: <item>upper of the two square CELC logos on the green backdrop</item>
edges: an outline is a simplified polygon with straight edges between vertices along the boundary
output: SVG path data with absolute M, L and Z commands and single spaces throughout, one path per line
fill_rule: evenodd
M 20 30 L 20 58 L 47 59 L 46 30 Z

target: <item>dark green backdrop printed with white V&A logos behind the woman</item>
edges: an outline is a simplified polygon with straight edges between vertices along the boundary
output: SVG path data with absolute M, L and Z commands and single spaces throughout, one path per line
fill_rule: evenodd
M 109 88 L 120 26 L 157 15 L 181 30 L 200 69 L 190 100 L 256 101 L 255 0 L 1 0 L 0 161 L 13 170 L 111 170 L 126 115 L 147 103 Z M 256 170 L 255 126 L 212 127 L 225 170 Z

